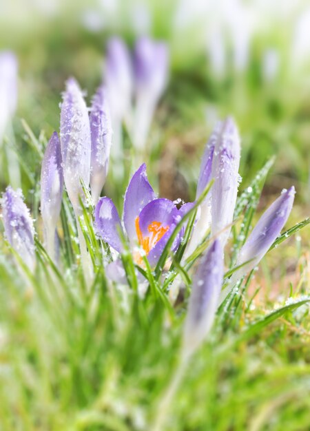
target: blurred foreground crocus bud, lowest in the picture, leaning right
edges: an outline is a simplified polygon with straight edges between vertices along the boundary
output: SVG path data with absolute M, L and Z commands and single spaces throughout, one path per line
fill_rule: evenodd
M 183 353 L 189 356 L 200 346 L 214 322 L 223 283 L 223 248 L 215 240 L 194 275 L 185 319 Z

